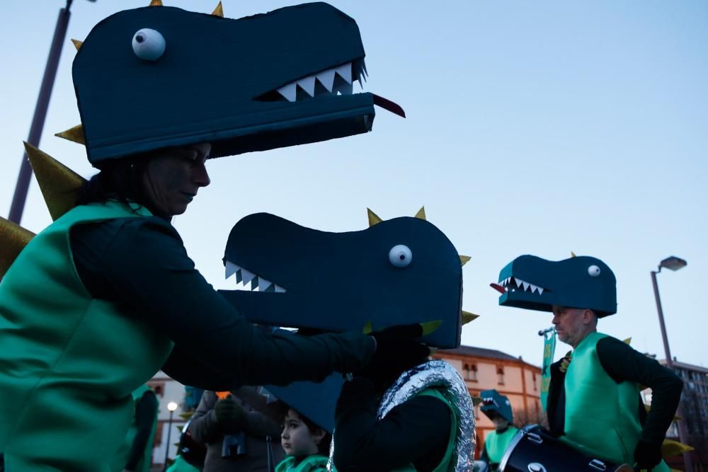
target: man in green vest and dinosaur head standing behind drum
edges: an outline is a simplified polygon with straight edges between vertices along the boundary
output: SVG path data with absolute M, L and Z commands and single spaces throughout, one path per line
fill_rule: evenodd
M 598 333 L 617 312 L 615 275 L 588 256 L 557 262 L 522 255 L 501 270 L 499 304 L 553 313 L 558 338 L 573 347 L 552 364 L 547 400 L 551 432 L 583 454 L 668 472 L 661 443 L 678 407 L 682 381 L 627 343 Z M 650 387 L 646 413 L 639 391 Z

